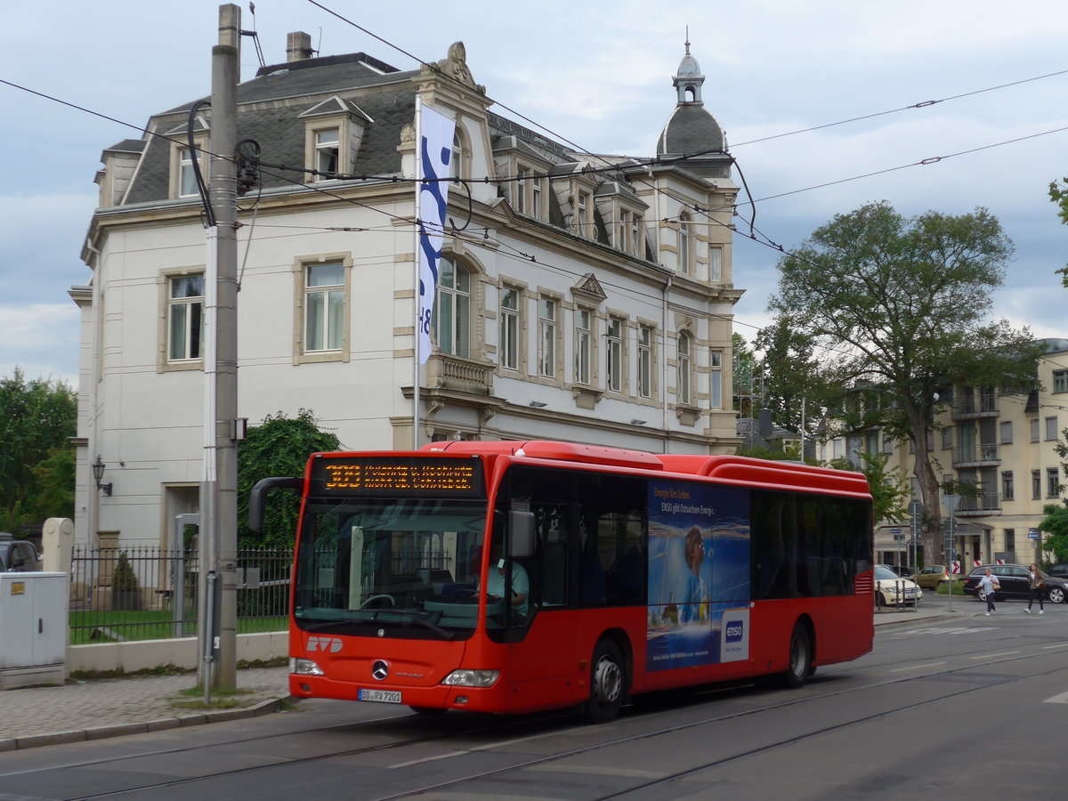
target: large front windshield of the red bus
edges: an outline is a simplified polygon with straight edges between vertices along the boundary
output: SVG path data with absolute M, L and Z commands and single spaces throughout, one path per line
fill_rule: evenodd
M 298 627 L 444 640 L 474 630 L 484 501 L 309 499 L 303 520 Z

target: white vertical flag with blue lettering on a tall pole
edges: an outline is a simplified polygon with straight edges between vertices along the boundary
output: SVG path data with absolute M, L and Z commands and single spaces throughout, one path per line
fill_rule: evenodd
M 438 263 L 444 240 L 445 211 L 449 203 L 449 162 L 453 155 L 456 123 L 444 114 L 423 106 L 419 114 L 419 363 L 430 357 L 430 317 L 438 286 Z

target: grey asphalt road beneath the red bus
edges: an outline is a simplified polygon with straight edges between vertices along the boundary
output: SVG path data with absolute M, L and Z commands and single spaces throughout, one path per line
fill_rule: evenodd
M 1045 797 L 1064 783 L 1068 604 L 1039 616 L 1006 601 L 990 617 L 953 606 L 878 627 L 871 654 L 800 691 L 662 694 L 608 726 L 302 703 L 0 754 L 0 801 Z

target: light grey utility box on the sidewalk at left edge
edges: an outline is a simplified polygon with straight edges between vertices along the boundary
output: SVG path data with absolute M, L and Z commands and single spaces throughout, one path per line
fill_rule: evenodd
M 67 576 L 0 572 L 0 690 L 66 680 Z

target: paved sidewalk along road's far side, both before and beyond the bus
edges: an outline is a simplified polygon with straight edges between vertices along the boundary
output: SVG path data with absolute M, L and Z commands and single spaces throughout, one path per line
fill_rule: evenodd
M 959 609 L 954 603 L 953 616 L 967 614 L 965 603 L 961 602 Z M 916 611 L 883 608 L 875 612 L 875 625 L 909 624 L 946 615 L 945 607 L 934 603 L 921 603 Z M 191 673 L 5 690 L 0 692 L 0 751 L 267 714 L 280 709 L 288 697 L 288 670 L 283 665 L 239 671 L 237 686 L 242 692 L 233 697 L 240 708 L 218 711 L 173 705 L 175 701 L 188 701 L 180 693 L 195 684 Z

